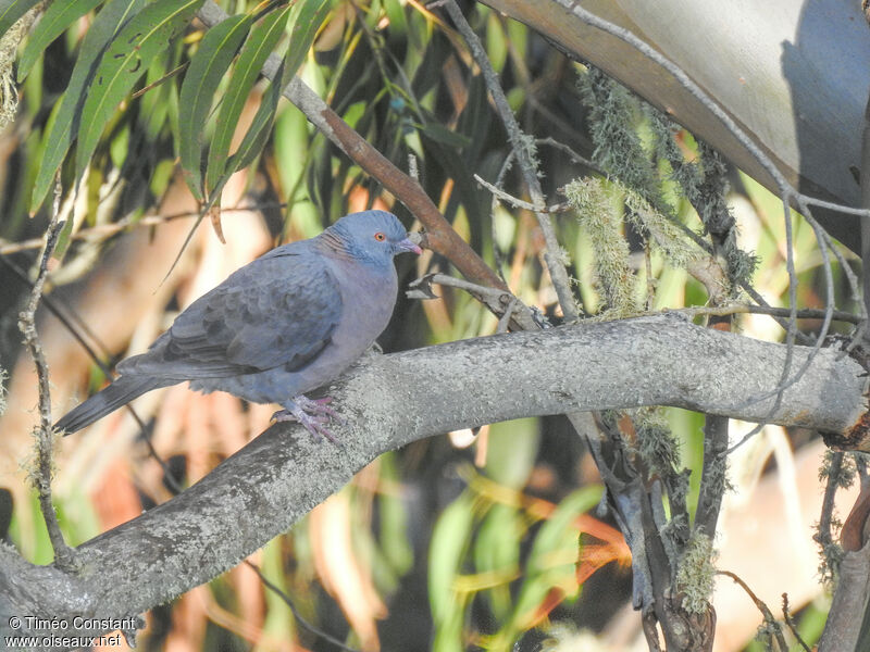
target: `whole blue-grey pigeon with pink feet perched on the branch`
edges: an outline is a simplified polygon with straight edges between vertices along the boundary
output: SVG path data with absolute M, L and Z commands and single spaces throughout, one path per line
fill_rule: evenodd
M 396 303 L 393 256 L 420 253 L 391 213 L 341 217 L 310 240 L 277 247 L 179 314 L 147 353 L 54 427 L 75 432 L 140 394 L 190 381 L 254 403 L 278 403 L 315 438 L 336 413 L 304 392 L 344 372 L 386 328 Z

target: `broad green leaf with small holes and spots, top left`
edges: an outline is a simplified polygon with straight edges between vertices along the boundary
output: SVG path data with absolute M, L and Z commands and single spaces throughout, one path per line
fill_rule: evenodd
M 75 170 L 80 178 L 117 104 L 203 0 L 154 0 L 121 28 L 102 55 L 82 109 Z

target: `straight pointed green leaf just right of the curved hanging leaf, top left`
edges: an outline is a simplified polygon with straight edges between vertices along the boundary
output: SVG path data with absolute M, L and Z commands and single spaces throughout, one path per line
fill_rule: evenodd
M 289 16 L 289 8 L 265 16 L 251 29 L 248 40 L 238 55 L 229 85 L 217 114 L 217 124 L 209 148 L 208 168 L 206 171 L 206 188 L 210 201 L 214 201 L 221 177 L 227 168 L 227 156 L 233 134 L 238 125 L 239 116 L 245 108 L 248 95 L 257 83 L 265 60 L 272 53 L 284 34 L 284 26 Z M 265 98 L 263 98 L 265 100 Z

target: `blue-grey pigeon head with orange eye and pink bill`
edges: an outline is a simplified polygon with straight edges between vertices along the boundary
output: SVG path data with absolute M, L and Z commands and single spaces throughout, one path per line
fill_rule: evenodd
M 388 265 L 397 253 L 422 253 L 399 218 L 386 211 L 345 215 L 323 233 L 323 238 L 336 252 L 381 265 Z

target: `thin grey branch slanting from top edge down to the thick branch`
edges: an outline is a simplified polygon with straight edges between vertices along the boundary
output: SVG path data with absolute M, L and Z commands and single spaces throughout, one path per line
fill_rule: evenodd
M 447 10 L 450 18 L 453 21 L 453 23 L 456 23 L 459 33 L 469 45 L 471 53 L 474 57 L 474 61 L 476 61 L 477 65 L 481 66 L 486 86 L 489 89 L 493 101 L 495 102 L 498 116 L 501 118 L 501 122 L 505 124 L 505 128 L 508 131 L 508 139 L 510 140 L 511 148 L 517 155 L 517 161 L 520 164 L 523 179 L 529 187 L 529 193 L 532 197 L 532 204 L 536 206 L 535 215 L 537 216 L 540 231 L 544 234 L 544 242 L 546 243 L 544 262 L 546 263 L 547 271 L 550 274 L 552 287 L 556 290 L 557 297 L 559 298 L 559 305 L 562 309 L 562 314 L 567 319 L 573 322 L 579 318 L 580 313 L 577 312 L 574 296 L 571 292 L 571 281 L 568 276 L 568 269 L 566 269 L 566 266 L 561 260 L 561 248 L 558 239 L 556 238 L 556 231 L 552 228 L 552 222 L 549 215 L 543 211 L 546 202 L 544 200 L 544 191 L 540 188 L 540 180 L 537 177 L 537 163 L 533 160 L 532 155 L 533 140 L 523 134 L 522 129 L 520 129 L 520 125 L 517 123 L 513 111 L 511 110 L 510 104 L 508 104 L 508 99 L 505 97 L 505 91 L 501 89 L 498 75 L 493 70 L 493 64 L 489 63 L 489 58 L 486 55 L 486 50 L 481 43 L 481 40 L 477 38 L 477 35 L 474 34 L 471 25 L 469 25 L 468 21 L 465 21 L 465 16 L 462 15 L 462 11 L 459 9 L 459 5 L 453 0 L 449 0 L 444 4 L 444 8 Z

